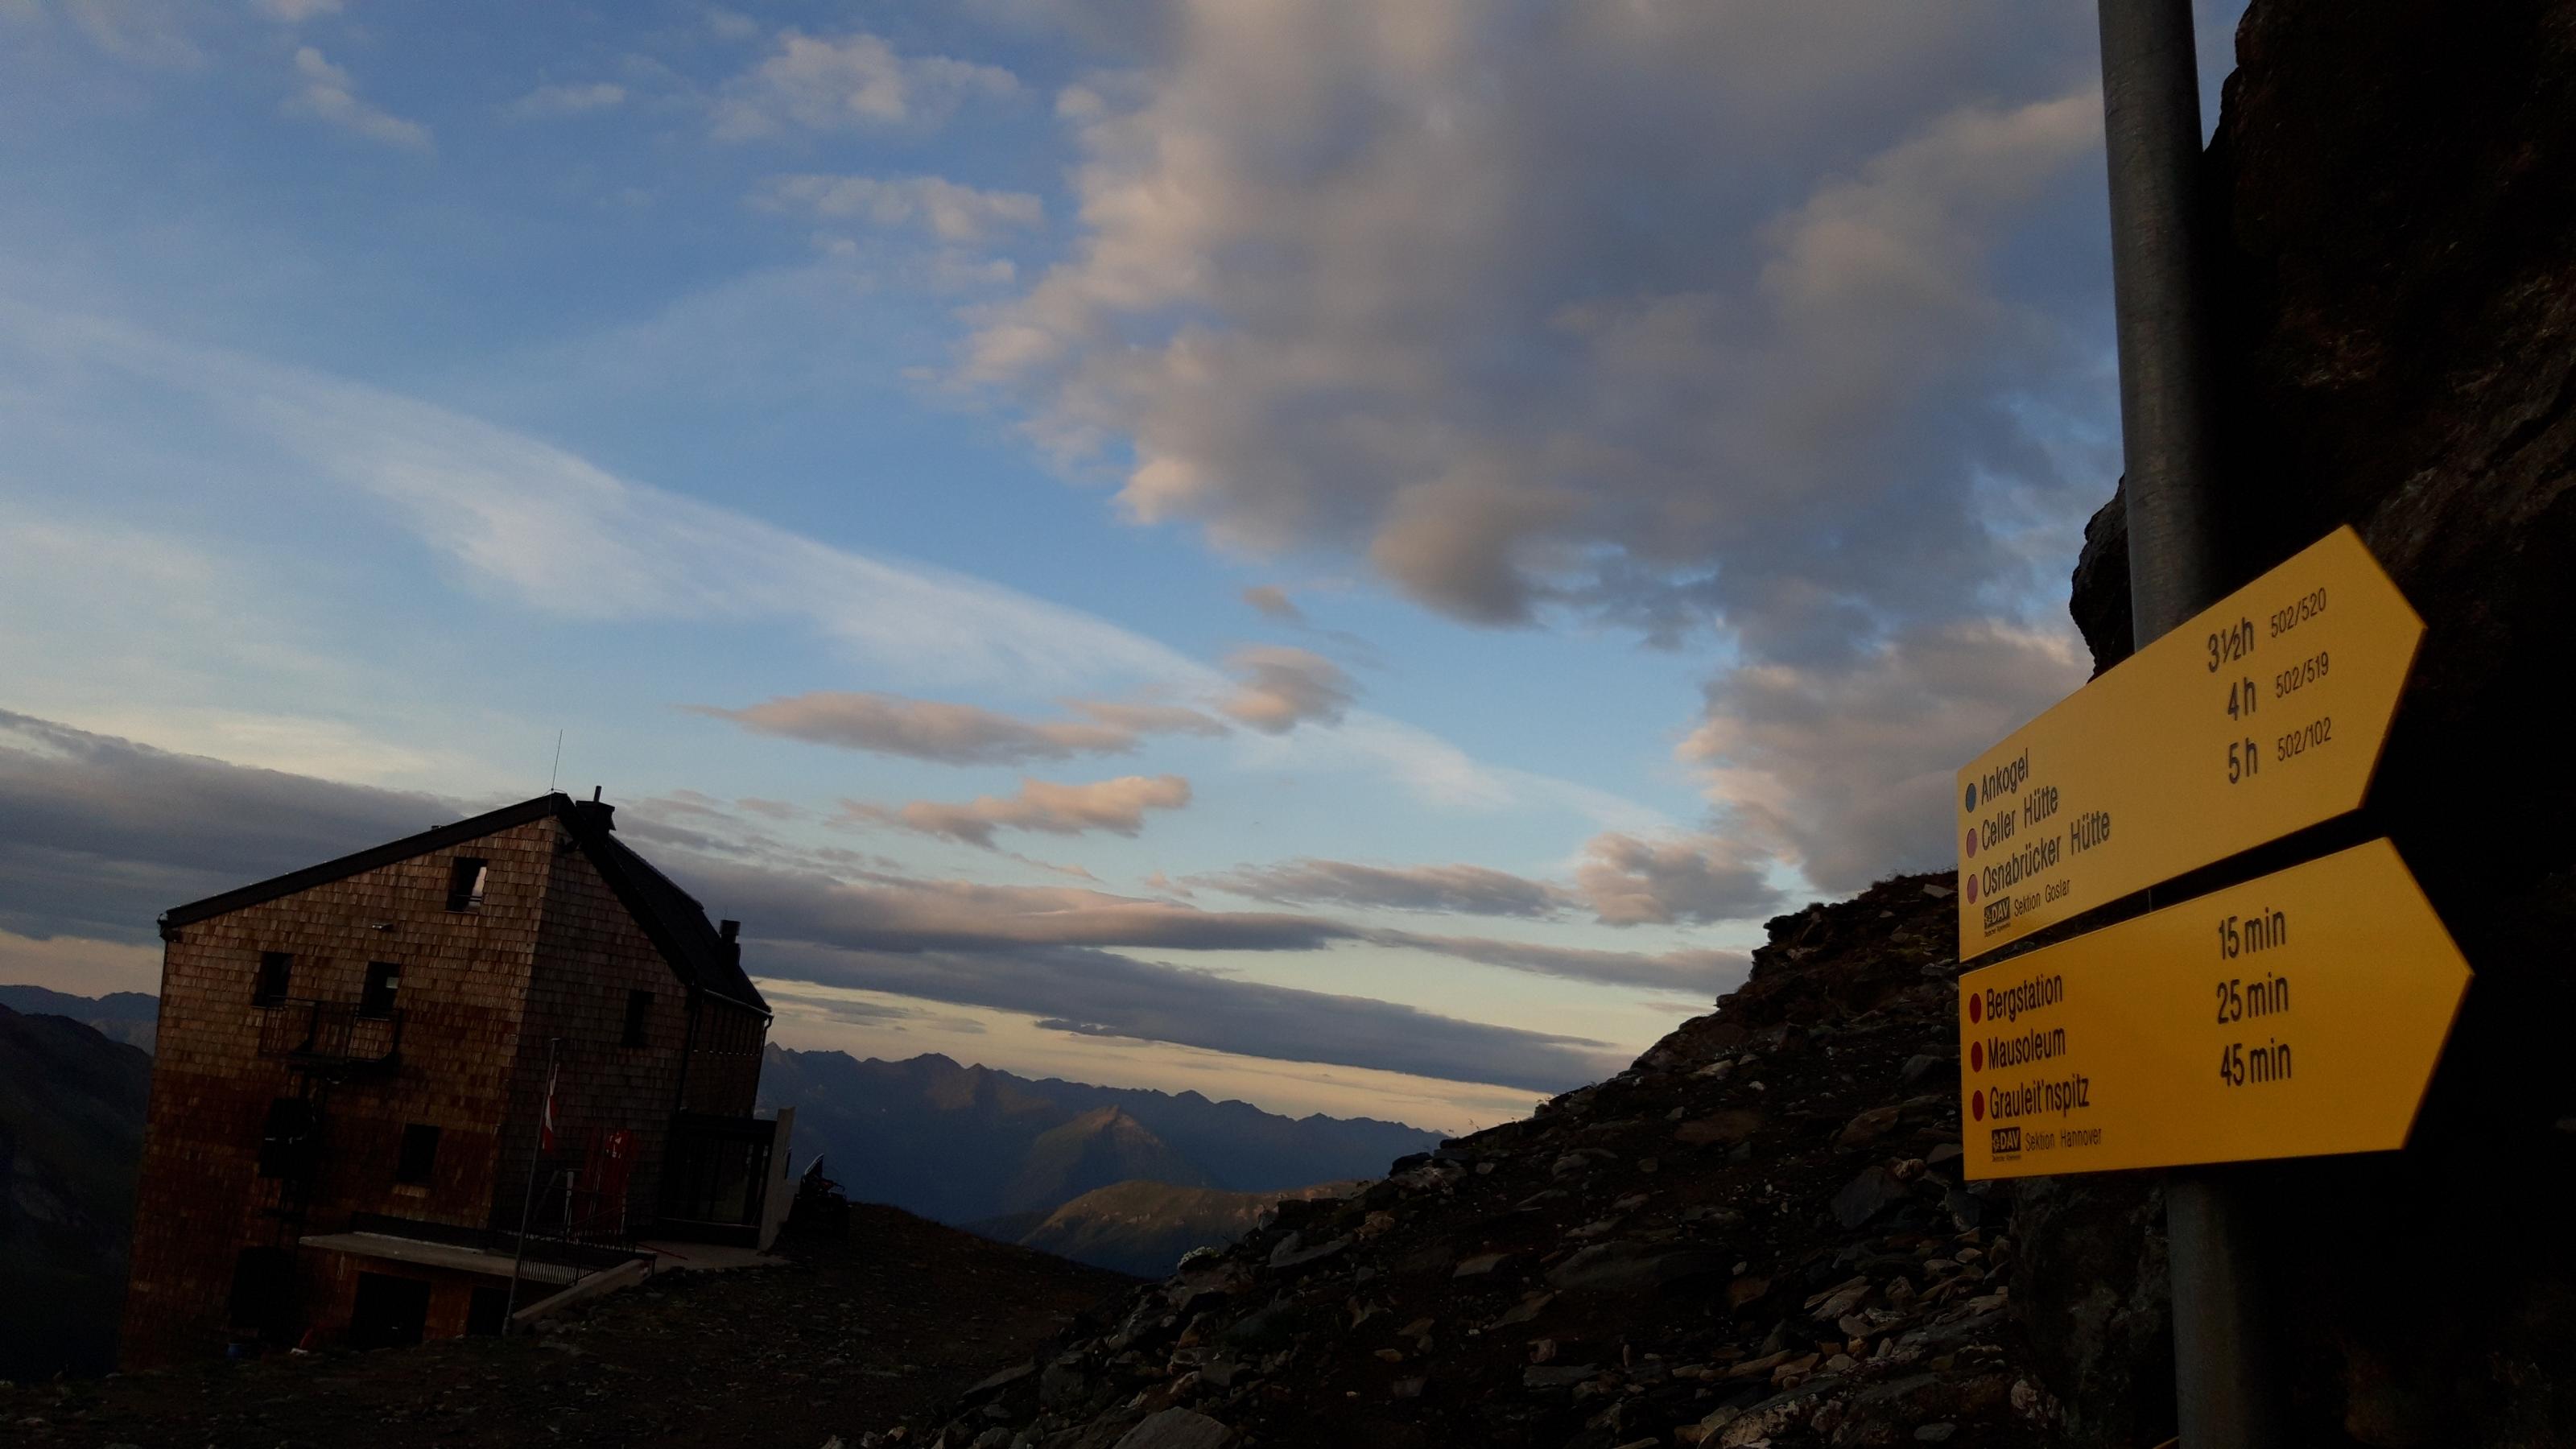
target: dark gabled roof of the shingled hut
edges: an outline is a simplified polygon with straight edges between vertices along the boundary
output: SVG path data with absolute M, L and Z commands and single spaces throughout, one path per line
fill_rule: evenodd
M 240 890 L 227 890 L 224 895 L 191 900 L 188 905 L 165 910 L 160 926 L 162 933 L 170 933 L 180 926 L 224 915 L 245 905 L 296 895 L 317 884 L 348 879 L 361 871 L 392 866 L 394 861 L 410 861 L 451 846 L 464 846 L 466 841 L 479 841 L 484 835 L 546 817 L 564 822 L 564 830 L 582 846 L 582 853 L 590 856 L 600 879 L 608 882 L 608 890 L 613 890 L 618 902 L 626 905 L 626 913 L 644 928 L 644 936 L 662 951 L 662 959 L 670 962 L 670 969 L 683 985 L 768 1016 L 768 1000 L 760 998 L 760 987 L 752 985 L 752 977 L 742 972 L 742 946 L 726 941 L 716 931 L 716 926 L 706 918 L 706 908 L 698 905 L 698 897 L 672 884 L 672 879 L 657 871 L 652 861 L 634 853 L 616 838 L 611 807 L 577 802 L 562 792 L 487 810 L 453 825 L 422 830 L 420 835 L 404 835 L 402 841 L 386 841 L 384 846 L 340 856 L 337 861 L 322 861 L 319 866 L 304 866 L 301 871 L 286 871 L 283 877 L 270 877 Z

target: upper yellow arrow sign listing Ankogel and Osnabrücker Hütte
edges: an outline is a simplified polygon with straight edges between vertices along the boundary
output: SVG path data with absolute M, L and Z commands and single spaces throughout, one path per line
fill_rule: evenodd
M 1958 771 L 1958 957 L 2362 804 L 2424 621 L 2352 529 Z

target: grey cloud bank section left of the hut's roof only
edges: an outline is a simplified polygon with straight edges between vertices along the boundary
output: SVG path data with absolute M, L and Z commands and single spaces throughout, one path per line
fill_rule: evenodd
M 173 905 L 459 815 L 0 712 L 0 928 L 144 941 Z

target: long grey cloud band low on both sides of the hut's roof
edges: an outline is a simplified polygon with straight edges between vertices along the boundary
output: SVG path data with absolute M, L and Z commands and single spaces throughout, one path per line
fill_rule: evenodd
M 160 910 L 410 835 L 464 810 L 173 755 L 0 714 L 0 931 L 149 941 Z M 696 825 L 677 825 L 690 820 Z M 1206 913 L 1074 887 L 922 882 L 835 851 L 739 835 L 706 797 L 636 802 L 621 830 L 716 910 L 750 923 L 765 977 L 987 1006 L 1270 1060 L 1561 1091 L 1618 1067 L 1600 1042 L 1383 1000 L 1275 987 L 1118 949 L 1306 951 L 1381 944 L 1507 969 L 1700 987 L 1718 962 L 1370 933 L 1285 913 Z M 732 851 L 732 853 L 726 853 Z M 814 869 L 832 861 L 837 874 Z

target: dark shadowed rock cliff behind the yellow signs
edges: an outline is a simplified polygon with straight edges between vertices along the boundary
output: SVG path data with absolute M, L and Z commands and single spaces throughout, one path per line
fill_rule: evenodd
M 2424 614 L 2352 833 L 2396 838 L 2478 972 L 2409 1152 L 2251 1173 L 2298 1441 L 2576 1444 L 2576 750 L 2555 706 L 2576 660 L 2576 5 L 2254 0 L 2236 59 L 2205 160 L 2233 567 L 2354 523 Z M 2128 655 L 2117 511 L 2076 570 L 2097 665 Z M 2128 1191 L 2092 1212 L 2151 1217 Z M 2087 1281 L 2156 1297 L 2123 1271 L 2130 1243 L 2074 1253 L 2025 1307 L 2079 1323 Z M 2099 1410 L 2146 1392 L 2105 1343 L 2066 1369 L 2105 1374 Z

